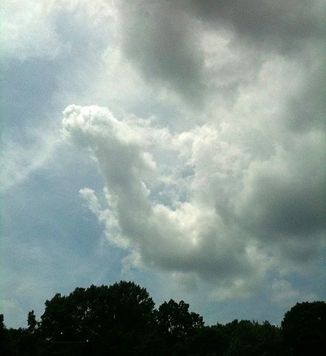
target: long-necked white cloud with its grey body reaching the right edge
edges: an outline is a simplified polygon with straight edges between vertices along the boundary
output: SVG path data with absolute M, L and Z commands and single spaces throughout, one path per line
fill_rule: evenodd
M 102 107 L 70 105 L 63 113 L 63 135 L 87 147 L 105 176 L 109 209 L 100 208 L 93 191 L 81 193 L 109 240 L 116 231 L 138 264 L 218 282 L 215 300 L 257 289 L 268 271 L 281 271 L 282 253 L 300 264 L 293 248 L 308 251 L 303 233 L 311 240 L 306 258 L 314 259 L 323 229 L 322 202 L 312 196 L 325 180 L 315 154 L 322 135 L 278 143 L 265 158 L 223 127 L 170 134 L 136 118 L 119 121 Z M 320 205 L 306 204 L 308 198 Z

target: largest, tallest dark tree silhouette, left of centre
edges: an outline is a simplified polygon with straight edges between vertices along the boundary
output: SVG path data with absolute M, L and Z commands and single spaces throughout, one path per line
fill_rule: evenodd
M 153 330 L 153 310 L 149 293 L 133 282 L 92 285 L 47 300 L 40 328 L 52 343 L 89 343 L 97 355 L 105 350 L 113 355 L 141 355 L 135 348 L 144 347 L 146 333 Z

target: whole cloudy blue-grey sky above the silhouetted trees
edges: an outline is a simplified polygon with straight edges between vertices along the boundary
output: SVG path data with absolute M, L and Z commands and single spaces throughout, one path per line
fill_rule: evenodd
M 133 280 L 206 324 L 325 300 L 323 0 L 1 3 L 0 313 Z

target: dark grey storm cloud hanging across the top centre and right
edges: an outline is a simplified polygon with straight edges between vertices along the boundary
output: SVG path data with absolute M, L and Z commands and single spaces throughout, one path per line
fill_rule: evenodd
M 309 55 L 316 56 L 315 51 L 326 35 L 323 1 L 121 3 L 121 43 L 127 59 L 151 83 L 173 90 L 193 108 L 206 101 L 215 74 L 204 58 L 202 35 L 205 32 L 228 33 L 230 45 L 241 48 L 242 52 L 252 52 L 251 58 L 243 58 L 244 63 L 249 61 L 249 66 L 257 68 L 262 64 L 261 56 L 266 59 L 273 53 L 309 61 Z M 225 54 L 219 55 L 217 61 L 222 62 Z M 244 71 L 254 76 L 251 69 L 241 68 L 241 76 L 246 77 Z M 213 88 L 228 90 L 228 96 L 232 95 L 239 86 L 239 82 L 231 79 L 235 70 L 239 68 L 233 61 L 224 65 L 219 71 L 219 83 Z M 228 75 L 227 80 L 224 75 Z M 224 100 L 228 98 L 224 96 Z

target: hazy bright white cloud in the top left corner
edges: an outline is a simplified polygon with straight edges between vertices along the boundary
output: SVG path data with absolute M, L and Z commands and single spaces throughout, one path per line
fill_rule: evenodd
M 114 17 L 112 1 L 104 0 L 63 0 L 25 1 L 10 0 L 1 4 L 2 56 L 17 58 L 25 61 L 29 58 L 43 57 L 55 59 L 63 52 L 70 51 L 86 36 L 82 30 L 91 28 L 92 35 L 97 34 L 98 28 L 108 27 L 103 19 Z M 62 22 L 62 18 L 66 21 Z M 67 21 L 68 20 L 68 21 Z M 74 30 L 69 24 L 74 23 Z M 77 30 L 78 28 L 78 30 Z M 96 42 L 93 42 L 94 44 Z M 87 43 L 89 46 L 90 43 Z M 84 48 L 84 53 L 86 53 Z

